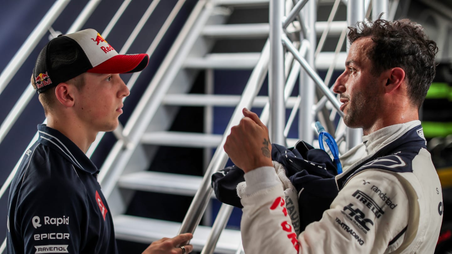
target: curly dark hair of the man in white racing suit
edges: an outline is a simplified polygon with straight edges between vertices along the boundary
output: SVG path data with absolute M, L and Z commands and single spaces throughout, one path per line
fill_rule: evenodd
M 359 38 L 370 37 L 374 42 L 367 56 L 372 61 L 372 73 L 400 67 L 407 78 L 408 97 L 418 109 L 424 102 L 436 73 L 436 42 L 429 40 L 421 25 L 401 19 L 387 21 L 358 22 L 356 27 L 348 27 L 348 39 L 353 43 Z

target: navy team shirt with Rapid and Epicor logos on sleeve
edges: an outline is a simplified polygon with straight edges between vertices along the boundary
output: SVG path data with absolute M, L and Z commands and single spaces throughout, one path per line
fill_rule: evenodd
M 11 183 L 7 253 L 118 253 L 99 170 L 61 132 L 38 132 Z

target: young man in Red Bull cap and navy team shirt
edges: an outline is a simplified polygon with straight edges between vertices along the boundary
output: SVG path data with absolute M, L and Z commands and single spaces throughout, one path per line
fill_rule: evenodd
M 32 85 L 47 125 L 11 183 L 7 253 L 118 253 L 99 170 L 85 155 L 98 132 L 113 131 L 129 89 L 119 73 L 143 70 L 146 54 L 119 55 L 94 29 L 52 39 L 36 61 Z M 183 234 L 143 253 L 192 251 Z

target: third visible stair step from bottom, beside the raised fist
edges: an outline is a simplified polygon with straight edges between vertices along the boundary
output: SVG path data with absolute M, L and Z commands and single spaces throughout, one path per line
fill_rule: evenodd
M 161 146 L 216 148 L 222 135 L 196 132 L 146 132 L 141 143 Z

